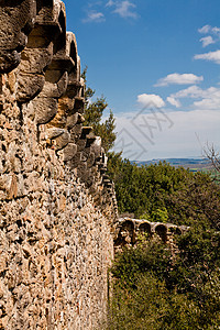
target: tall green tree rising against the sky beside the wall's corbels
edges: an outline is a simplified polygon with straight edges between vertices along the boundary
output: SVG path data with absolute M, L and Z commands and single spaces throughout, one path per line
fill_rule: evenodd
M 103 111 L 108 108 L 107 100 L 103 96 L 97 98 L 95 101 L 92 97 L 96 90 L 87 86 L 87 67 L 84 69 L 81 77 L 85 80 L 85 127 L 92 127 L 94 133 L 101 138 L 102 146 L 106 152 L 113 146 L 116 141 L 116 119 L 110 110 L 109 117 L 102 121 Z

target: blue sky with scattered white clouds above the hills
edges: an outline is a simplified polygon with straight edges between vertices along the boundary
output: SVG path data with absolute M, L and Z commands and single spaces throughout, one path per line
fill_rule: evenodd
M 130 160 L 220 148 L 219 0 L 65 1 L 82 67 Z

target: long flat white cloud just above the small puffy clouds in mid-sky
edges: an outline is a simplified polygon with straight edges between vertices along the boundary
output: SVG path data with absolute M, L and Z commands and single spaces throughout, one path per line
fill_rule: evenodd
M 196 76 L 194 74 L 170 74 L 165 78 L 162 78 L 157 81 L 155 86 L 168 86 L 168 85 L 191 85 L 204 81 L 204 77 Z

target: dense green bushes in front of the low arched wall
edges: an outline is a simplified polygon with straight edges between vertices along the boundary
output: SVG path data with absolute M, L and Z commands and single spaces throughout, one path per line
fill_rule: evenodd
M 175 256 L 147 240 L 118 255 L 108 329 L 219 329 L 220 235 L 191 229 L 176 240 Z

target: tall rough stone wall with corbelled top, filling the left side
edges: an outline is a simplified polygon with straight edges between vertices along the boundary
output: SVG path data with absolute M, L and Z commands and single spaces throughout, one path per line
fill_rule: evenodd
M 0 329 L 96 329 L 117 202 L 59 0 L 0 0 Z

